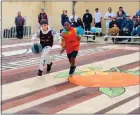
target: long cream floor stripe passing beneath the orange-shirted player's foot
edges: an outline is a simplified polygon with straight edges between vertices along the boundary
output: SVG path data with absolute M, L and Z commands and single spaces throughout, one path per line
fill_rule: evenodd
M 89 65 L 102 66 L 103 70 L 108 70 L 112 67 L 126 65 L 128 63 L 136 62 L 138 60 L 139 60 L 139 52 L 87 64 L 85 66 L 80 66 L 80 67 L 87 67 Z M 40 90 L 45 87 L 50 87 L 50 86 L 65 82 L 67 78 L 54 79 L 54 77 L 59 72 L 60 71 L 43 75 L 41 77 L 33 77 L 33 78 L 24 79 L 21 81 L 16 81 L 13 83 L 2 85 L 2 90 L 3 90 L 2 100 L 10 99 L 19 95 L 23 95 L 23 94 L 30 93 L 36 90 Z M 14 90 L 11 90 L 11 88 Z

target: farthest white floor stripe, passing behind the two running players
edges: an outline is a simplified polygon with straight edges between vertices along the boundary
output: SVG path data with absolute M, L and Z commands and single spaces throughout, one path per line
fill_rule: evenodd
M 86 43 L 81 43 L 81 45 L 86 44 Z M 59 49 L 61 48 L 60 45 L 53 45 L 52 50 L 53 49 Z M 8 51 L 8 52 L 2 52 L 2 55 L 4 55 L 5 57 L 8 56 L 13 56 L 13 55 L 19 55 L 19 54 L 24 54 L 27 51 L 27 49 L 23 49 L 23 50 L 15 50 L 15 51 Z M 32 50 L 29 49 L 27 52 L 28 53 L 32 53 Z

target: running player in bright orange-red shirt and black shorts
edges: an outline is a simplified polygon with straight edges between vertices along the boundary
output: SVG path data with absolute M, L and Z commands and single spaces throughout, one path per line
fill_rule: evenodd
M 62 50 L 60 54 L 62 54 L 66 50 L 67 57 L 71 65 L 69 70 L 70 76 L 73 75 L 76 69 L 75 59 L 80 47 L 80 39 L 82 35 L 81 33 L 82 32 L 80 32 L 78 28 L 71 27 L 70 22 L 65 22 L 64 30 L 62 32 Z

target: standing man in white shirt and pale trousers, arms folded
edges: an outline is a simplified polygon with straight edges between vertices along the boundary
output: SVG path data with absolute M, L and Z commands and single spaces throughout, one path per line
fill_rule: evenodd
M 115 13 L 112 12 L 112 8 L 108 8 L 108 12 L 106 12 L 104 16 L 104 20 L 106 20 L 106 34 L 109 32 L 109 23 L 111 22 L 112 18 L 115 16 Z

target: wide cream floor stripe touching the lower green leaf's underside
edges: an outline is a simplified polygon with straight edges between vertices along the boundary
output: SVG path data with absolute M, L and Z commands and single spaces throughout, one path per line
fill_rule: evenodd
M 126 87 L 125 88 L 126 91 L 124 94 L 114 97 L 114 98 L 110 98 L 105 94 L 102 94 L 100 96 L 97 96 L 95 98 L 89 99 L 85 102 L 82 102 L 80 104 L 77 104 L 75 106 L 72 106 L 68 109 L 62 110 L 60 112 L 58 112 L 57 114 L 64 114 L 64 113 L 68 113 L 68 114 L 72 114 L 72 113 L 96 113 L 106 107 L 109 107 L 117 102 L 120 102 L 126 98 L 129 98 L 137 93 L 139 93 L 139 85 L 137 86 L 130 86 L 130 87 Z M 138 103 L 138 102 L 137 102 Z M 137 104 L 136 103 L 136 104 Z M 133 106 L 135 103 L 131 103 L 131 105 L 129 106 Z M 81 109 L 84 108 L 84 109 Z M 133 108 L 133 107 L 132 107 Z M 127 106 L 126 106 L 127 109 Z M 116 111 L 119 113 L 122 113 L 120 111 Z M 125 113 L 126 111 L 124 111 Z M 112 112 L 114 113 L 114 112 Z

